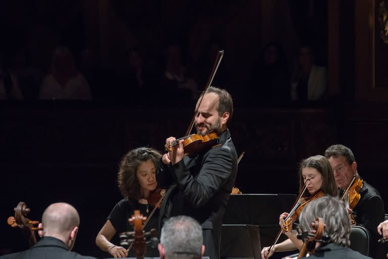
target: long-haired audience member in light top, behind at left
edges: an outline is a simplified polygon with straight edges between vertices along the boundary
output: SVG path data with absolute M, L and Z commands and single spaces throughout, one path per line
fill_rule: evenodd
M 77 70 L 74 58 L 66 47 L 57 47 L 52 59 L 52 73 L 43 79 L 39 98 L 42 100 L 91 99 L 89 84 Z

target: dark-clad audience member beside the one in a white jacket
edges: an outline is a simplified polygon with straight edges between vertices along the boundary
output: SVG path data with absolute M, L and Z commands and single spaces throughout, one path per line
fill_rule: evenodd
M 284 102 L 290 100 L 288 64 L 282 47 L 276 42 L 267 44 L 260 60 L 253 66 L 251 97 L 254 101 Z

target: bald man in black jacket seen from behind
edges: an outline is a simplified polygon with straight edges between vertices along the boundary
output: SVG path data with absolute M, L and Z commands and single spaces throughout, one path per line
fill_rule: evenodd
M 47 207 L 42 215 L 42 223 L 38 231 L 40 240 L 30 249 L 1 256 L 2 259 L 95 259 L 91 256 L 82 256 L 70 250 L 74 246 L 79 226 L 77 210 L 68 203 L 54 203 Z

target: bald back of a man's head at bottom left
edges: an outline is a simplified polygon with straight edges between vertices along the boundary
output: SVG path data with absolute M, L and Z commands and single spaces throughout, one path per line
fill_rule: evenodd
M 79 215 L 68 203 L 53 203 L 44 210 L 42 225 L 43 236 L 64 237 L 79 226 Z

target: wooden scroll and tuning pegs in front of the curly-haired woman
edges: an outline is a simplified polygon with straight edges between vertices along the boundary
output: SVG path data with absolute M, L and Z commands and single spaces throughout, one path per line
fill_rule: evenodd
M 146 219 L 146 217 L 143 217 L 143 215 L 140 214 L 139 210 L 135 210 L 132 217 L 128 219 L 129 223 L 133 226 L 134 231 L 119 234 L 120 245 L 128 245 L 129 242 L 131 242 L 130 248 L 133 247 L 137 259 L 144 258 L 144 254 L 147 251 L 146 245 L 151 244 L 152 247 L 155 248 L 159 243 L 157 238 L 158 232 L 155 229 L 144 233 L 143 223 L 146 222 Z M 151 240 L 147 241 L 148 237 L 151 237 Z M 128 248 L 128 251 L 130 248 Z

